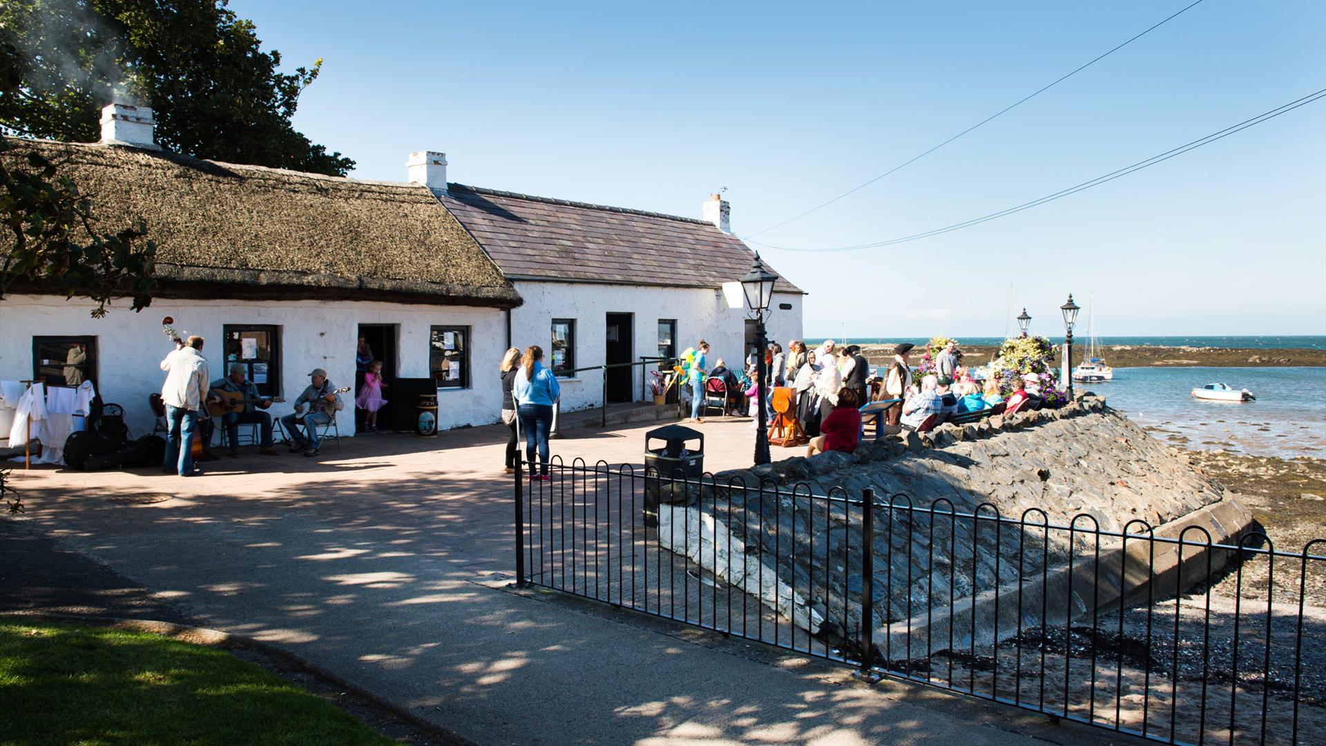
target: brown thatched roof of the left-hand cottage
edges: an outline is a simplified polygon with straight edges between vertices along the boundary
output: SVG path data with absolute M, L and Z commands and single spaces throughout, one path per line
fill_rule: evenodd
M 163 297 L 354 299 L 513 307 L 501 269 L 423 186 L 16 141 L 91 198 L 98 230 L 142 219 Z

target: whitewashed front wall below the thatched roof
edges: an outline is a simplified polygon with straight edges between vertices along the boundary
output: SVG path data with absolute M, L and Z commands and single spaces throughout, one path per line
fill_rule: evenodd
M 163 316 L 175 327 L 202 335 L 203 356 L 211 364 L 212 378 L 225 373 L 221 328 L 225 324 L 273 324 L 280 327 L 281 394 L 294 400 L 308 385 L 308 373 L 325 368 L 339 386 L 354 385 L 354 349 L 359 324 L 399 325 L 396 374 L 427 378 L 431 325 L 471 328 L 471 388 L 442 389 L 438 394 L 440 429 L 459 425 L 487 425 L 499 421 L 501 388 L 496 374 L 505 350 L 504 312 L 492 308 L 407 305 L 371 301 L 232 301 L 158 299 L 141 313 L 127 303 L 105 319 L 90 319 L 86 299 L 11 295 L 0 303 L 0 378 L 32 377 L 33 336 L 97 337 L 97 385 L 102 398 L 125 408 L 130 430 L 142 435 L 152 430 L 149 394 L 160 390 L 164 373 L 158 364 L 172 348 L 162 335 Z M 391 390 L 383 394 L 391 398 Z M 354 433 L 353 393 L 345 394 L 346 409 L 337 423 L 343 435 Z M 408 402 L 410 408 L 415 402 Z M 289 414 L 290 404 L 273 405 L 271 411 Z

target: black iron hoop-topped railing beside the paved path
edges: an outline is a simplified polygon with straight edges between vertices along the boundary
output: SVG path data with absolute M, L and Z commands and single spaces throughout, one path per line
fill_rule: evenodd
M 1166 743 L 1319 742 L 1326 539 L 1301 552 L 991 503 L 516 474 L 516 572 L 804 654 Z

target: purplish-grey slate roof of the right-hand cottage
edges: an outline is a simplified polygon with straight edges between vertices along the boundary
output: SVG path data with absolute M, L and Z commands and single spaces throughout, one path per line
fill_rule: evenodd
M 754 259 L 692 218 L 456 183 L 438 198 L 511 280 L 719 288 Z M 774 291 L 802 292 L 781 275 Z

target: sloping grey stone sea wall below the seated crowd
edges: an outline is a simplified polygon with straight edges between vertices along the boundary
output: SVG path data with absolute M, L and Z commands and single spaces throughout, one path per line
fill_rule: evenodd
M 971 605 L 973 596 L 997 595 L 1014 576 L 1054 585 L 1052 575 L 1070 552 L 1095 550 L 1085 535 L 1071 538 L 1070 547 L 1067 531 L 1045 523 L 1085 531 L 1120 531 L 1131 520 L 1159 527 L 1225 498 L 1187 457 L 1090 394 L 1059 410 L 944 425 L 863 442 L 853 454 L 797 457 L 720 473 L 715 481 L 716 487 L 674 490 L 671 500 L 664 495 L 664 546 L 675 536 L 675 551 L 701 547 L 687 552 L 692 560 L 739 588 L 757 579 L 758 592 L 748 592 L 798 627 L 830 637 L 855 634 L 863 623 L 858 601 L 866 550 L 862 508 L 853 502 L 867 488 L 875 496 L 875 609 L 866 624 L 875 627 L 919 612 L 934 616 L 951 603 L 961 607 L 963 599 Z M 994 520 L 996 514 L 1012 520 Z M 1238 511 L 1220 515 L 1225 523 L 1242 520 L 1228 518 L 1241 516 Z M 1241 530 L 1217 526 L 1213 539 Z M 740 550 L 720 550 L 715 542 Z M 1099 547 L 1109 555 L 1111 540 Z M 708 567 L 715 564 L 709 558 L 720 561 Z M 1067 596 L 1073 591 L 1069 585 Z M 1077 607 L 1085 608 L 1081 601 Z M 1028 621 L 1022 611 L 1013 609 L 1010 633 Z

